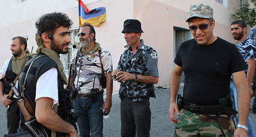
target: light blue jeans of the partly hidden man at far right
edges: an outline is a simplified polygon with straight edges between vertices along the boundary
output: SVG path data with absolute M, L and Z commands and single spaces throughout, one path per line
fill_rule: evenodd
M 233 99 L 233 109 L 236 109 L 236 111 L 238 111 L 238 92 L 232 81 L 230 81 L 230 95 L 231 95 L 231 98 Z M 232 118 L 234 119 L 234 122 L 236 122 L 236 125 L 238 125 L 238 114 L 233 115 Z M 247 121 L 247 128 L 248 128 L 247 133 L 249 137 L 256 136 L 252 121 L 249 116 Z

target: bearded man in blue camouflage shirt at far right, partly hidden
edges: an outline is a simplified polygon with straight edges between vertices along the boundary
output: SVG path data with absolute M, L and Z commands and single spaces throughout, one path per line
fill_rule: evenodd
M 236 44 L 239 52 L 241 53 L 244 62 L 246 63 L 248 69 L 245 70 L 247 83 L 250 90 L 250 96 L 253 96 L 253 77 L 255 73 L 255 59 L 256 59 L 256 44 L 249 37 L 247 37 L 246 29 L 247 25 L 243 20 L 235 20 L 231 23 L 230 29 L 233 35 L 233 38 L 238 41 Z M 233 109 L 238 111 L 238 93 L 237 89 L 234 86 L 233 79 L 230 80 L 230 93 L 233 99 Z M 232 116 L 236 124 L 238 124 L 238 115 Z M 250 117 L 247 120 L 248 126 L 248 136 L 256 136 L 254 132 L 254 127 Z

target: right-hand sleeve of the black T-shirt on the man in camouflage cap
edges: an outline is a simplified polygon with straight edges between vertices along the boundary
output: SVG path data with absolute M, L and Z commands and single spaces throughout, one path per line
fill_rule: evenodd
M 230 72 L 239 72 L 242 70 L 246 70 L 247 66 L 244 62 L 244 59 L 241 56 L 241 53 L 239 52 L 238 48 L 233 45 L 230 49 Z

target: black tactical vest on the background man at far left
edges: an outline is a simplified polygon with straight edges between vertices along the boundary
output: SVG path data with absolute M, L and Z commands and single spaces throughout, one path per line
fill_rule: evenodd
M 5 73 L 5 77 L 6 77 L 6 81 L 4 83 L 4 93 L 7 95 L 9 94 L 9 91 L 11 89 L 11 87 L 9 86 L 10 83 L 12 83 L 15 79 L 17 74 L 15 74 L 14 72 L 12 72 L 12 58 L 8 64 L 6 73 Z

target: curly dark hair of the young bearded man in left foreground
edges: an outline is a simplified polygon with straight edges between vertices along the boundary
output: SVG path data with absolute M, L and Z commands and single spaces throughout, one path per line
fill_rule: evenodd
M 67 14 L 61 12 L 53 12 L 42 15 L 35 23 L 37 34 L 41 37 L 43 33 L 53 35 L 57 28 L 63 26 L 71 28 L 73 22 Z

